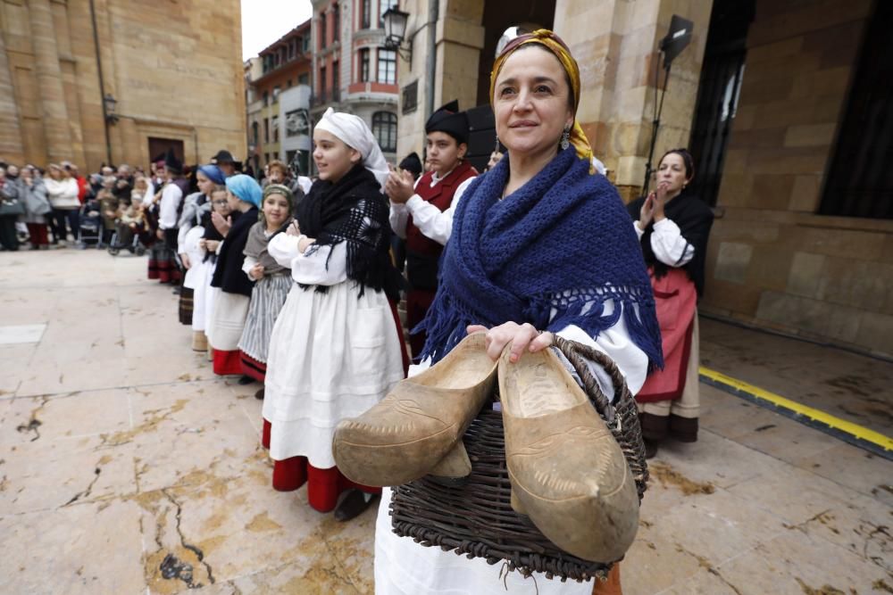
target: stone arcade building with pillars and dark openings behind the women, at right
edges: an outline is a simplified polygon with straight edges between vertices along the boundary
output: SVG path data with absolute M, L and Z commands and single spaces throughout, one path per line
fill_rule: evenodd
M 889 16 L 885 3 L 440 0 L 433 5 L 436 13 L 429 0 L 400 3 L 410 13 L 405 46 L 413 54 L 411 62 L 399 61 L 397 153 L 421 154 L 430 106 L 454 98 L 463 109 L 488 103 L 488 75 L 506 28 L 552 28 L 580 64 L 577 118 L 624 200 L 637 196 L 645 179 L 655 87 L 664 82 L 661 39 L 673 14 L 692 21 L 691 43 L 672 62 L 655 161 L 667 149 L 692 145 L 694 150 L 705 136 L 714 137 L 715 154 L 695 152 L 696 160 L 704 160 L 696 169 L 704 171 L 709 161 L 716 181 L 716 192 L 705 196 L 717 218 L 700 310 L 893 356 L 893 214 L 832 215 L 838 186 L 829 182 L 837 175 L 834 163 L 847 153 L 843 143 L 854 136 L 858 142 L 858 127 L 848 122 L 858 111 L 854 97 L 862 96 L 857 74 L 864 70 L 864 55 L 893 55 L 886 37 L 876 40 L 887 44 L 881 47 L 886 53 L 864 47 L 871 23 Z M 723 24 L 722 17 L 731 22 Z M 730 25 L 740 30 L 739 39 L 727 40 L 739 42 L 733 48 L 722 43 L 722 28 Z M 433 71 L 427 62 L 431 45 Z M 734 76 L 711 79 L 715 62 L 730 51 L 739 55 L 730 70 Z M 409 106 L 407 96 L 412 96 Z M 888 110 L 887 120 L 879 122 L 889 121 L 890 104 L 877 108 Z M 889 136 L 874 134 L 871 142 L 879 154 L 889 154 Z M 893 207 L 891 190 L 882 184 L 870 190 L 885 213 Z M 860 200 L 871 202 L 873 194 L 866 192 Z

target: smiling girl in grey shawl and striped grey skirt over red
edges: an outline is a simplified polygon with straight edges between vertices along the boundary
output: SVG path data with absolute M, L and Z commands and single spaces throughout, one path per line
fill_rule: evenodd
M 248 317 L 242 338 L 238 341 L 238 351 L 242 359 L 242 373 L 262 384 L 273 325 L 292 285 L 291 271 L 273 259 L 267 251 L 267 243 L 291 219 L 292 200 L 288 186 L 266 186 L 263 189 L 261 220 L 251 227 L 245 244 L 242 270 L 255 281 L 255 288 L 251 292 Z M 263 387 L 255 393 L 255 397 L 263 399 Z

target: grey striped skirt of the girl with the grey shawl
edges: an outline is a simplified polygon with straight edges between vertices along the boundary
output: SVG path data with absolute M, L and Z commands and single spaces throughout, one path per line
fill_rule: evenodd
M 248 361 L 254 368 L 257 363 L 264 364 L 266 368 L 273 325 L 276 324 L 276 318 L 288 298 L 292 285 L 294 281 L 288 272 L 263 277 L 255 284 L 251 302 L 248 304 L 245 330 L 238 340 L 239 351 L 248 356 Z

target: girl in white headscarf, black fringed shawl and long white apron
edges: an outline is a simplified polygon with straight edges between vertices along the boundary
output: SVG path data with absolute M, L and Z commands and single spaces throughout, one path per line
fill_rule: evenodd
M 295 285 L 270 339 L 263 401 L 273 487 L 307 482 L 310 506 L 336 508 L 338 520 L 363 512 L 379 489 L 338 472 L 335 426 L 384 398 L 405 374 L 396 320 L 401 277 L 388 247 L 388 164 L 357 116 L 329 109 L 313 131 L 319 180 L 298 204 L 296 221 L 268 252 Z M 266 444 L 265 444 L 266 445 Z

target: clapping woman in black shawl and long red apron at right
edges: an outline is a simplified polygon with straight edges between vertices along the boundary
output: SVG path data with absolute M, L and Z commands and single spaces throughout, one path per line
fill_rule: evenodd
M 636 395 L 646 455 L 654 457 L 666 438 L 697 441 L 697 298 L 704 292 L 707 237 L 714 223 L 710 207 L 687 186 L 695 163 L 686 149 L 663 154 L 657 189 L 630 202 L 630 217 L 655 289 L 663 335 L 663 370 L 655 371 Z

